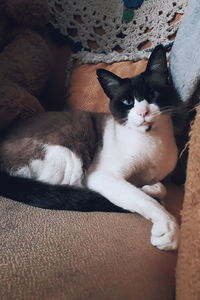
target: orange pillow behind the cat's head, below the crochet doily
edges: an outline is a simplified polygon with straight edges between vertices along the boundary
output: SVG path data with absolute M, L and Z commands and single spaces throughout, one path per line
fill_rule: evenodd
M 97 80 L 96 70 L 99 68 L 107 69 L 125 78 L 143 72 L 146 64 L 146 60 L 140 60 L 138 62 L 124 61 L 110 65 L 100 63 L 74 67 L 70 80 L 67 108 L 92 112 L 109 112 L 109 99 Z

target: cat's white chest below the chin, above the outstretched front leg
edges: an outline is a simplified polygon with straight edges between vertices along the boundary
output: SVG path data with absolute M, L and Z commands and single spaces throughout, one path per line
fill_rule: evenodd
M 143 185 L 163 179 L 173 170 L 176 160 L 177 148 L 171 126 L 166 130 L 140 132 L 116 126 L 110 120 L 96 168 L 117 177 L 131 177 L 134 184 Z

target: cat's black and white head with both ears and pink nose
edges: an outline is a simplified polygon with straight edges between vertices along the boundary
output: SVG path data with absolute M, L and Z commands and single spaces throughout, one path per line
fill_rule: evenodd
M 120 124 L 147 131 L 179 103 L 169 83 L 166 53 L 161 45 L 153 50 L 146 70 L 135 77 L 123 79 L 104 69 L 98 69 L 97 76 L 110 98 L 110 111 Z

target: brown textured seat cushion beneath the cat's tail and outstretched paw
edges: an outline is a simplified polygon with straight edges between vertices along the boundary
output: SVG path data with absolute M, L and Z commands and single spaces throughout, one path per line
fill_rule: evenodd
M 179 215 L 183 193 L 166 205 Z M 137 214 L 49 211 L 0 199 L 0 299 L 172 300 L 176 253 Z

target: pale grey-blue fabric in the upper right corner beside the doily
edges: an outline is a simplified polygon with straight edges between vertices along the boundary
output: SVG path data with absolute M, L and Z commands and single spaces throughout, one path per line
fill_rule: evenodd
M 190 0 L 170 56 L 174 85 L 188 101 L 200 83 L 200 1 Z

